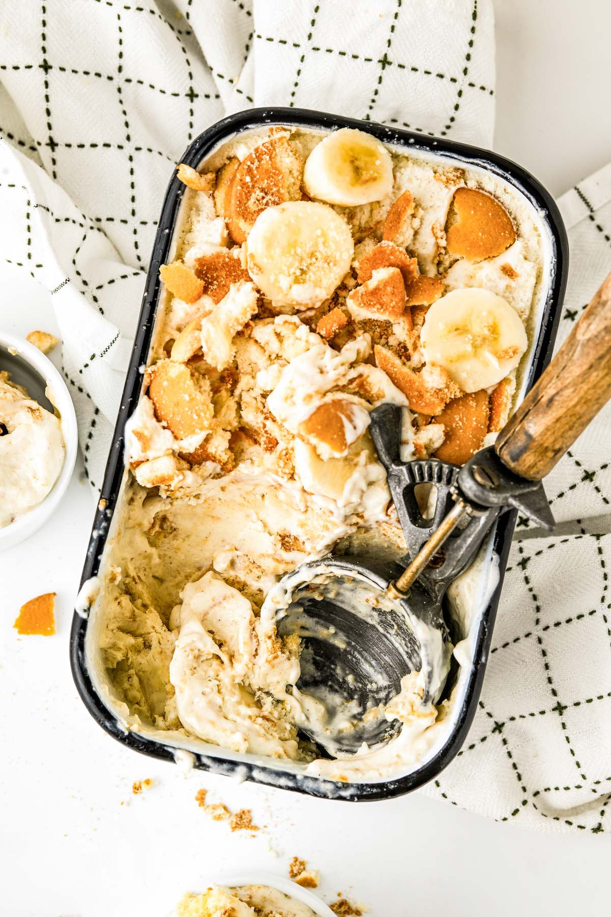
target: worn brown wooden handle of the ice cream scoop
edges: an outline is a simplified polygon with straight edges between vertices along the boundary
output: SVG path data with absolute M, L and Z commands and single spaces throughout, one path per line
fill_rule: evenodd
M 496 438 L 516 474 L 540 481 L 611 398 L 611 274 Z

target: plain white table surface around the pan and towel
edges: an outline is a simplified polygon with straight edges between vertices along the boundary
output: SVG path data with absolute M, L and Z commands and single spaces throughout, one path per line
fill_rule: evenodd
M 560 194 L 611 160 L 611 4 L 495 8 L 496 149 Z M 0 326 L 23 336 L 56 329 L 49 295 L 1 260 L 0 291 Z M 52 359 L 60 364 L 59 353 Z M 184 776 L 104 735 L 68 659 L 93 507 L 79 462 L 57 516 L 0 555 L 3 917 L 164 917 L 220 870 L 287 875 L 295 855 L 321 870 L 323 898 L 341 891 L 371 917 L 608 912 L 606 834 L 530 833 L 418 794 L 357 805 Z M 19 637 L 19 607 L 48 591 L 57 635 Z M 134 796 L 132 783 L 146 778 L 155 786 Z M 201 787 L 232 811 L 251 809 L 266 836 L 211 822 L 194 801 Z

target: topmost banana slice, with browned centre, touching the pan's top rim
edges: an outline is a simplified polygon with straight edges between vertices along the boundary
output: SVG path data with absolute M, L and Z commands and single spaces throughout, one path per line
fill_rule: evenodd
M 344 207 L 386 197 L 393 184 L 390 153 L 362 130 L 343 127 L 311 151 L 303 185 L 311 197 Z

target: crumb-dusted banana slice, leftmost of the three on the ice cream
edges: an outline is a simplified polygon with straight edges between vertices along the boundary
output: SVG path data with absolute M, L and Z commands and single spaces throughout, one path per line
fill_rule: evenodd
M 256 217 L 247 270 L 274 303 L 308 309 L 333 293 L 355 252 L 345 220 L 326 204 L 288 201 Z

